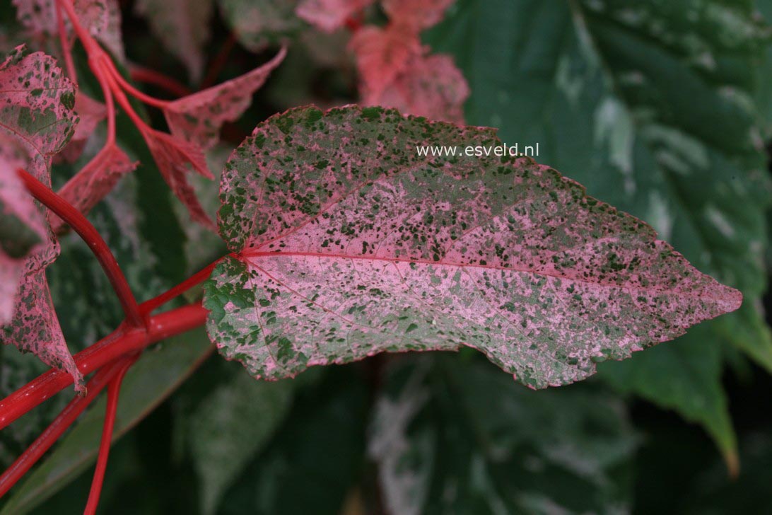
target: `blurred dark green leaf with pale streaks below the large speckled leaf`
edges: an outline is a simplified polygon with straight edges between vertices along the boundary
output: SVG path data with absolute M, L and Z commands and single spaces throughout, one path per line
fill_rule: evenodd
M 391 367 L 368 449 L 388 513 L 624 513 L 635 445 L 602 392 L 439 357 Z

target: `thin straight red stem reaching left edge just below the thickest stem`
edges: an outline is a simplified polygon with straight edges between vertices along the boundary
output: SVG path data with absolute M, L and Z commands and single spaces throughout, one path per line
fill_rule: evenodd
M 94 374 L 94 377 L 86 385 L 86 395 L 83 397 L 80 395 L 76 396 L 72 401 L 69 401 L 69 404 L 54 418 L 51 425 L 0 476 L 0 496 L 4 496 L 8 490 L 11 490 L 12 486 L 50 449 L 54 442 L 59 439 L 59 436 L 83 413 L 86 406 L 90 405 L 91 401 L 97 397 L 116 371 L 116 365 L 108 365 L 100 369 L 97 374 Z

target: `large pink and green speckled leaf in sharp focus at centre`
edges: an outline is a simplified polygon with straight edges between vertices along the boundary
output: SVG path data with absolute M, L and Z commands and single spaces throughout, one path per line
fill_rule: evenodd
M 378 107 L 269 118 L 222 174 L 234 257 L 208 333 L 257 378 L 383 351 L 474 347 L 533 388 L 736 310 L 655 231 L 530 158 L 422 156 L 495 130 Z

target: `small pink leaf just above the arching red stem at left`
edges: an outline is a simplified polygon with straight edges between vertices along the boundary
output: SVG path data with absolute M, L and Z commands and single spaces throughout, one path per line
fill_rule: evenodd
M 109 143 L 95 155 L 66 185 L 59 190 L 67 202 L 84 215 L 105 198 L 117 185 L 120 178 L 137 168 L 137 161 L 131 161 L 126 152 L 116 144 Z M 62 219 L 53 217 L 52 228 L 59 232 Z

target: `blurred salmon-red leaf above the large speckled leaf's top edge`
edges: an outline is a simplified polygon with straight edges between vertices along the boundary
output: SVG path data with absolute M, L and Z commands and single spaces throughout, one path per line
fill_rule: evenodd
M 357 58 L 363 97 L 380 97 L 405 70 L 411 57 L 422 53 L 418 33 L 408 25 L 391 23 L 381 29 L 367 25 L 357 30 L 349 48 Z

